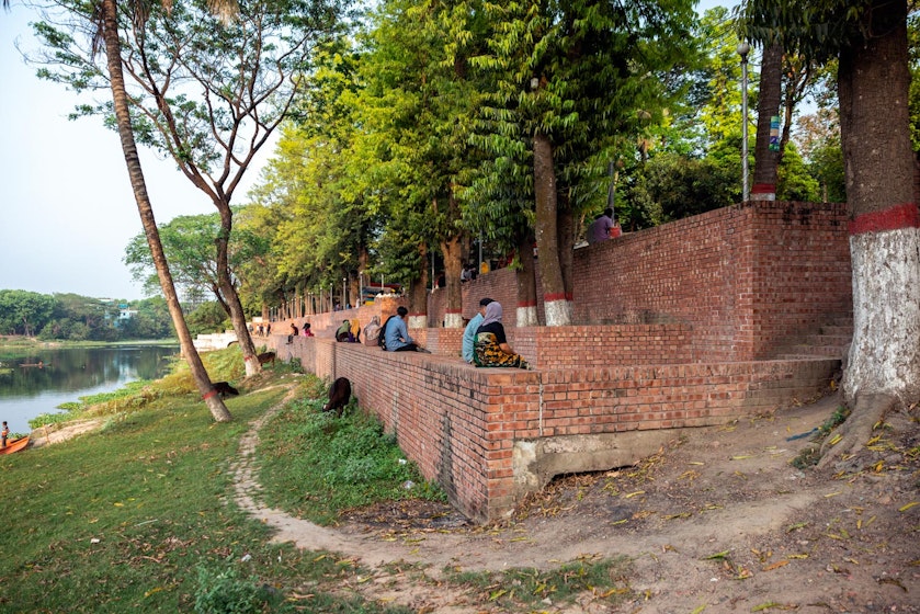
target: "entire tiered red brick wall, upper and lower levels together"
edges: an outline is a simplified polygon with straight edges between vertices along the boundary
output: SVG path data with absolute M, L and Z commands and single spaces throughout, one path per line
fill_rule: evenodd
M 520 442 L 720 424 L 826 389 L 839 360 L 763 359 L 851 311 L 845 217 L 842 205 L 759 202 L 580 248 L 571 327 L 515 329 L 513 271 L 464 284 L 464 317 L 482 296 L 502 303 L 509 340 L 535 372 L 463 363 L 462 329 L 439 328 L 442 291 L 432 328 L 410 331 L 433 355 L 323 336 L 286 344 L 283 322 L 268 342 L 282 360 L 351 379 L 361 407 L 459 510 L 496 519 L 534 488 L 515 481 Z M 357 310 L 362 325 L 396 303 L 370 309 Z

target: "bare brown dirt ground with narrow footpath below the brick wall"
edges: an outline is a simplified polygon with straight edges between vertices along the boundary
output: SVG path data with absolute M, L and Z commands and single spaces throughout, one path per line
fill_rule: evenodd
M 920 411 L 889 417 L 845 468 L 794 467 L 806 434 L 839 407 L 830 396 L 689 430 L 638 466 L 557 479 L 490 526 L 431 503 L 355 511 L 336 528 L 265 509 L 251 471 L 257 428 L 237 467 L 238 500 L 276 541 L 373 569 L 343 591 L 417 612 L 501 611 L 440 582 L 445 567 L 548 569 L 622 555 L 632 559 L 626 603 L 586 595 L 539 611 L 920 612 Z

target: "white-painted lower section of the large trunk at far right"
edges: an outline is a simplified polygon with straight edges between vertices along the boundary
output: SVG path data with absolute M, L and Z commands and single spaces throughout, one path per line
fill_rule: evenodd
M 920 229 L 850 238 L 853 342 L 843 374 L 848 402 L 862 395 L 909 401 L 920 394 Z

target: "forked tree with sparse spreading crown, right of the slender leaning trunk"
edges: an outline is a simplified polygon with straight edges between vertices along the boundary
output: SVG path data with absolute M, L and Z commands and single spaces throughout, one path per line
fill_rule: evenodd
M 87 10 L 77 0 L 58 2 L 71 14 Z M 259 363 L 230 266 L 230 203 L 257 154 L 308 87 L 313 53 L 338 34 L 343 3 L 260 0 L 236 4 L 231 15 L 215 14 L 212 5 L 155 4 L 143 23 L 121 13 L 121 68 L 134 137 L 170 157 L 217 208 L 217 284 L 252 375 Z M 38 34 L 54 52 L 55 70 L 43 75 L 78 91 L 106 87 L 95 57 L 49 23 Z M 79 111 L 111 117 L 114 105 Z

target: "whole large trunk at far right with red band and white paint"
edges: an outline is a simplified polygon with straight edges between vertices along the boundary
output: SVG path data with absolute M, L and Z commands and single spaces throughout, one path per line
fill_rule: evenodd
M 920 398 L 920 215 L 909 139 L 907 4 L 875 0 L 875 36 L 840 54 L 840 134 L 852 221 L 853 407 L 834 455 L 857 451 L 884 412 Z

